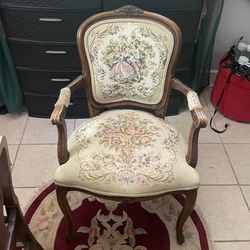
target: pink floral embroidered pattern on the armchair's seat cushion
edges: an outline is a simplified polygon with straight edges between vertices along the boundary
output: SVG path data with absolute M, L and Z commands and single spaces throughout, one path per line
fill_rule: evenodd
M 82 181 L 161 185 L 174 180 L 176 146 L 180 141 L 176 130 L 140 111 L 110 111 L 100 116 L 100 122 L 95 120 L 76 130 L 81 145 L 78 177 Z M 95 130 L 92 139 L 88 138 L 90 130 Z M 98 152 L 92 150 L 87 155 L 92 142 Z M 155 143 L 166 150 L 157 150 Z

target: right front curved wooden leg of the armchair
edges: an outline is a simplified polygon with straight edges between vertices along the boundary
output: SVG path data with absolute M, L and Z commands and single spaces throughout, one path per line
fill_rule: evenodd
M 183 235 L 183 225 L 194 208 L 197 198 L 197 191 L 198 189 L 193 189 L 187 191 L 186 193 L 186 200 L 176 225 L 176 236 L 177 236 L 177 242 L 179 244 L 183 244 L 185 242 L 185 238 Z

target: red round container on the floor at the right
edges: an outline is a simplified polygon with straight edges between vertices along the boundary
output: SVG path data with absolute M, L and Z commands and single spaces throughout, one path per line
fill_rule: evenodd
M 227 60 L 226 63 L 230 63 L 230 61 Z M 211 93 L 211 102 L 214 106 L 216 106 L 231 73 L 231 69 L 224 66 L 225 62 L 219 69 Z M 237 74 L 231 76 L 225 87 L 218 111 L 232 120 L 250 122 L 250 81 L 246 77 L 241 78 Z

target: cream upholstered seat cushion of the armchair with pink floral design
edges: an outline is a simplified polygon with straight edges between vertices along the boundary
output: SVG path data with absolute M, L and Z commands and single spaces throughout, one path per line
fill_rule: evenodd
M 180 133 L 147 112 L 113 110 L 80 125 L 55 183 L 109 196 L 145 197 L 199 186 Z

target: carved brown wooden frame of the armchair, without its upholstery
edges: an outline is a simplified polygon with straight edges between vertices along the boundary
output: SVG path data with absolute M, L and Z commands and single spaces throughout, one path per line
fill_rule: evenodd
M 170 59 L 166 81 L 165 81 L 164 95 L 162 97 L 162 100 L 158 104 L 155 104 L 155 105 L 141 104 L 141 103 L 132 102 L 132 101 L 122 101 L 122 102 L 109 103 L 109 104 L 100 104 L 94 100 L 93 95 L 92 95 L 90 69 L 89 69 L 86 53 L 83 48 L 84 34 L 87 28 L 91 24 L 97 21 L 110 19 L 110 18 L 129 18 L 129 17 L 149 19 L 149 20 L 154 20 L 158 23 L 161 23 L 164 26 L 169 28 L 169 30 L 172 32 L 174 39 L 175 39 L 175 47 L 174 47 L 174 50 Z M 139 108 L 146 108 L 149 110 L 153 110 L 157 117 L 164 119 L 171 89 L 172 88 L 176 89 L 180 91 L 181 93 L 183 93 L 185 96 L 187 96 L 187 94 L 190 91 L 192 91 L 192 89 L 188 88 L 181 81 L 174 78 L 174 68 L 175 68 L 177 58 L 180 53 L 181 31 L 173 21 L 171 21 L 170 19 L 166 17 L 160 16 L 158 14 L 154 14 L 151 12 L 143 11 L 131 5 L 121 7 L 120 9 L 117 9 L 115 11 L 100 13 L 100 14 L 90 17 L 80 26 L 78 30 L 78 34 L 77 34 L 77 44 L 78 44 L 78 50 L 79 50 L 79 55 L 80 55 L 84 75 L 77 77 L 67 87 L 70 88 L 71 92 L 81 87 L 85 88 L 85 91 L 87 93 L 88 107 L 89 107 L 89 112 L 90 112 L 91 117 L 99 115 L 102 111 L 106 109 L 114 108 L 117 106 L 135 106 Z M 63 104 L 56 105 L 51 115 L 52 124 L 56 125 L 58 129 L 59 164 L 66 163 L 70 156 L 69 151 L 67 149 L 67 129 L 66 129 L 66 123 L 65 123 L 66 110 L 67 110 L 67 107 L 65 105 Z M 198 158 L 199 131 L 200 131 L 200 128 L 206 127 L 207 119 L 201 107 L 194 108 L 193 110 L 191 110 L 191 115 L 193 119 L 193 124 L 191 126 L 190 135 L 189 135 L 188 153 L 186 155 L 186 160 L 190 166 L 196 167 L 197 158 Z M 73 237 L 74 224 L 73 224 L 71 209 L 68 204 L 66 195 L 67 195 L 67 192 L 73 191 L 73 190 L 82 191 L 87 194 L 99 197 L 99 198 L 104 198 L 104 199 L 114 200 L 114 201 L 119 201 L 119 202 L 135 202 L 135 201 L 142 201 L 142 200 L 151 200 L 151 199 L 158 198 L 160 196 L 174 194 L 174 193 L 185 194 L 186 201 L 179 215 L 177 226 L 176 226 L 177 241 L 179 244 L 182 244 L 184 242 L 182 228 L 186 219 L 188 218 L 188 216 L 190 215 L 194 207 L 198 189 L 196 188 L 196 189 L 189 190 L 189 191 L 166 192 L 164 194 L 161 194 L 158 196 L 152 196 L 152 197 L 132 198 L 132 197 L 119 197 L 119 196 L 117 197 L 104 196 L 104 195 L 99 195 L 97 193 L 91 193 L 84 189 L 76 189 L 76 188 L 63 187 L 63 186 L 57 185 L 56 191 L 57 191 L 58 203 L 62 212 L 64 213 L 64 216 L 66 217 L 68 221 L 67 239 L 69 241 L 72 240 L 72 237 Z

